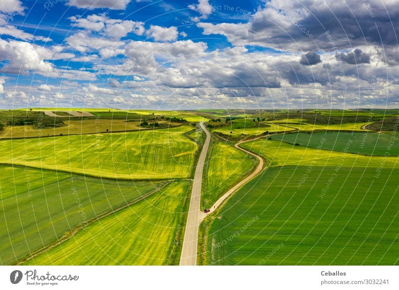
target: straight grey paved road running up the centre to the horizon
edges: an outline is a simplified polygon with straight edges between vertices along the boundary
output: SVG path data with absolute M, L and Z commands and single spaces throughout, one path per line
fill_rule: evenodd
M 200 123 L 200 127 L 205 131 L 206 139 L 202 147 L 200 158 L 194 175 L 193 191 L 191 193 L 189 214 L 187 217 L 186 232 L 184 234 L 182 256 L 180 258 L 181 266 L 195 266 L 197 264 L 197 243 L 198 243 L 198 228 L 200 226 L 200 200 L 201 200 L 201 184 L 202 184 L 202 170 L 206 159 L 206 152 L 208 151 L 210 134 Z

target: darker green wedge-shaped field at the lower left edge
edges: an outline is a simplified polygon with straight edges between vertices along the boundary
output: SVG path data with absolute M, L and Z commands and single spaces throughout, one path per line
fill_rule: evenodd
M 161 185 L 0 166 L 0 264 L 20 260 Z

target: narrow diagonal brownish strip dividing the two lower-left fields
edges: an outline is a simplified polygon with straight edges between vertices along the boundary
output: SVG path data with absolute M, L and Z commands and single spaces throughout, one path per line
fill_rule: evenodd
M 122 206 L 120 206 L 120 207 L 118 207 L 118 208 L 116 208 L 114 210 L 111 210 L 111 211 L 108 211 L 108 212 L 104 212 L 102 214 L 99 214 L 96 217 L 93 217 L 93 218 L 89 219 L 87 221 L 87 223 L 85 224 L 85 226 L 78 225 L 78 226 L 72 228 L 70 231 L 66 232 L 60 239 L 55 240 L 54 242 L 48 244 L 47 246 L 34 251 L 30 255 L 27 255 L 24 258 L 22 258 L 21 260 L 15 261 L 15 262 L 11 263 L 10 265 L 19 266 L 19 265 L 22 265 L 23 263 L 26 263 L 26 262 L 32 260 L 33 258 L 36 258 L 37 256 L 39 256 L 39 255 L 41 255 L 41 254 L 53 249 L 54 247 L 56 247 L 58 245 L 61 245 L 62 243 L 66 242 L 67 240 L 69 240 L 70 238 L 75 236 L 79 231 L 84 230 L 85 227 L 91 225 L 92 223 L 94 223 L 94 222 L 96 222 L 96 221 L 98 221 L 98 220 L 100 220 L 102 218 L 105 218 L 105 217 L 107 217 L 107 216 L 109 216 L 111 214 L 117 213 L 117 212 L 119 212 L 119 211 L 121 211 L 121 210 L 123 210 L 125 208 L 130 207 L 133 204 L 136 204 L 136 203 L 142 201 L 143 199 L 149 197 L 150 195 L 153 195 L 154 193 L 160 191 L 161 189 L 165 188 L 166 186 L 168 186 L 169 184 L 171 184 L 173 182 L 174 182 L 173 180 L 169 180 L 168 182 L 165 182 L 164 184 L 162 184 L 160 187 L 154 189 L 153 191 L 150 191 L 149 193 L 147 193 L 147 194 L 145 194 L 145 195 L 143 195 L 143 196 L 141 196 L 139 198 L 136 198 L 136 199 L 128 202 L 127 204 L 124 204 L 124 205 L 122 205 Z

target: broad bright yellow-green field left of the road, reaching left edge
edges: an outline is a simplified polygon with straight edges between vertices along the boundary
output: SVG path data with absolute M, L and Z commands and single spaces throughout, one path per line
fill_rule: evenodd
M 190 175 L 198 145 L 192 127 L 0 141 L 0 162 L 118 179 Z

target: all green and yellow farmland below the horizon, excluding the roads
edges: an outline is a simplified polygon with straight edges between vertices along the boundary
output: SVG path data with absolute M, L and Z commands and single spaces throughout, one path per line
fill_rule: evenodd
M 395 110 L 42 110 L 0 111 L 2 265 L 178 265 L 196 122 L 201 210 L 256 167 L 236 142 L 266 161 L 204 219 L 198 263 L 398 264 Z

